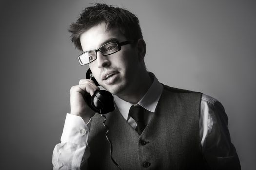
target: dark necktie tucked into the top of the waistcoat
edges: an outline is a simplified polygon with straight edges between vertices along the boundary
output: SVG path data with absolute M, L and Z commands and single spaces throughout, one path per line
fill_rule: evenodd
M 137 124 L 135 130 L 140 135 L 146 127 L 146 125 L 144 123 L 143 107 L 141 107 L 140 105 L 131 106 L 131 108 L 129 110 L 129 115 L 135 120 L 135 122 Z

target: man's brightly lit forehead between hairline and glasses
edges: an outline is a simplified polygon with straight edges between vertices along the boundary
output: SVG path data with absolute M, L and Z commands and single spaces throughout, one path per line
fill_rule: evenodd
M 88 29 L 83 32 L 80 37 L 83 51 L 97 49 L 111 41 L 123 40 L 126 40 L 126 38 L 118 28 L 111 28 L 107 30 L 105 23 L 98 24 Z

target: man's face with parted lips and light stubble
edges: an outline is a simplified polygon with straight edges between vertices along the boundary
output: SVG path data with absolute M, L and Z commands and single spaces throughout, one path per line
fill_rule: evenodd
M 106 31 L 106 24 L 98 24 L 81 34 L 83 51 L 94 50 L 102 45 L 127 38 L 117 28 Z M 139 73 L 141 62 L 138 59 L 138 51 L 131 44 L 121 46 L 121 50 L 103 56 L 97 52 L 97 59 L 89 64 L 89 67 L 99 83 L 106 90 L 115 95 L 129 94 L 136 89 L 136 76 Z

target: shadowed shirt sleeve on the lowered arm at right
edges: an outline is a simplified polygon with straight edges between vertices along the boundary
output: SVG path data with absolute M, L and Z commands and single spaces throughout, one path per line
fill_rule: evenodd
M 228 130 L 228 117 L 220 102 L 203 95 L 200 136 L 202 152 L 210 169 L 241 170 L 240 161 Z M 201 122 L 200 122 L 201 121 Z M 203 121 L 203 122 L 202 122 Z

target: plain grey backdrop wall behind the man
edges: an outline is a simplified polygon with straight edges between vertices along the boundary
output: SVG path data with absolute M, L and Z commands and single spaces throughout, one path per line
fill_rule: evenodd
M 51 169 L 69 89 L 87 70 L 67 28 L 95 2 L 0 1 L 1 170 Z M 256 1 L 104 2 L 138 16 L 146 65 L 159 81 L 222 102 L 242 169 L 256 170 Z

